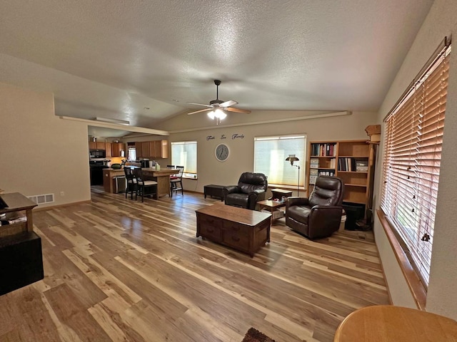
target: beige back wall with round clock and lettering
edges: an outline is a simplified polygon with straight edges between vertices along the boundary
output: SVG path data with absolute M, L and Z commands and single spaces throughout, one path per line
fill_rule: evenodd
M 169 130 L 169 140 L 196 140 L 198 180 L 184 180 L 184 189 L 203 192 L 204 185 L 233 185 L 238 182 L 242 172 L 253 170 L 253 139 L 262 135 L 283 135 L 306 133 L 307 140 L 353 140 L 368 138 L 365 128 L 376 124 L 376 113 L 353 113 L 347 116 L 331 118 L 303 118 L 316 115 L 306 111 L 254 111 L 246 114 L 229 114 L 222 125 L 210 120 L 205 114 L 180 115 L 162 123 L 159 129 Z M 283 120 L 277 123 L 265 123 L 268 120 Z M 228 127 L 232 125 L 231 127 Z M 190 127 L 190 128 L 189 128 Z M 179 132 L 181 130 L 181 132 Z M 182 130 L 190 130 L 183 132 Z M 244 138 L 232 139 L 232 135 Z M 226 139 L 222 139 L 222 135 Z M 207 140 L 207 137 L 214 139 Z M 214 150 L 221 142 L 229 146 L 230 156 L 225 162 L 219 162 Z M 306 156 L 298 156 L 303 177 L 303 162 Z M 285 162 L 285 160 L 278 160 Z

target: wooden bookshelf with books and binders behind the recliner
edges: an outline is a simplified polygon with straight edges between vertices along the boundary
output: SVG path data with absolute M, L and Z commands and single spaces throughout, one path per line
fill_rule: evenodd
M 310 142 L 306 182 L 308 195 L 319 175 L 336 176 L 344 183 L 343 202 L 368 203 L 371 191 L 373 145 L 366 140 Z

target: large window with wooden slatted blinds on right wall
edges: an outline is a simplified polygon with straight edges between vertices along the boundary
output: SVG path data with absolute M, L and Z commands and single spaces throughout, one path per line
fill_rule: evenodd
M 450 42 L 386 116 L 381 209 L 428 286 L 441 164 Z

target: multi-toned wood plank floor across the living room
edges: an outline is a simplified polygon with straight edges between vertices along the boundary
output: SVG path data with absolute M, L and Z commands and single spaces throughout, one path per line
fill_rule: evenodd
M 0 296 L 0 341 L 333 341 L 363 306 L 388 304 L 371 232 L 311 242 L 278 219 L 255 257 L 196 238 L 203 195 L 92 191 L 34 211 L 45 278 Z M 0 280 L 1 281 L 1 280 Z

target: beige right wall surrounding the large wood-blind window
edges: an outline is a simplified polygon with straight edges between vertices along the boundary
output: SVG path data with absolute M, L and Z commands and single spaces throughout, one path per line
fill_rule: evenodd
M 391 110 L 412 81 L 416 73 L 431 56 L 444 36 L 457 37 L 457 2 L 453 0 L 436 0 L 430 13 L 411 46 L 408 56 L 403 61 L 400 71 L 392 83 L 383 105 L 378 113 L 378 121 Z M 456 44 L 453 44 L 456 45 Z M 441 175 L 438 192 L 438 207 L 436 212 L 435 234 L 433 237 L 433 252 L 431 276 L 428 287 L 427 311 L 457 319 L 457 229 L 456 229 L 456 199 L 457 199 L 457 51 L 451 53 L 451 67 L 448 84 L 446 105 L 446 121 L 443 139 L 443 154 Z M 382 146 L 382 142 L 381 142 Z M 382 147 L 381 151 L 382 152 Z M 381 185 L 381 165 L 376 170 L 376 196 Z M 415 307 L 401 270 L 393 255 L 390 244 L 386 239 L 377 217 L 374 225 L 376 244 L 383 261 L 384 272 L 391 291 L 393 303 L 396 305 Z

